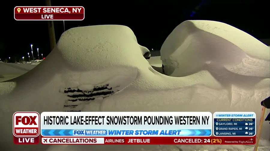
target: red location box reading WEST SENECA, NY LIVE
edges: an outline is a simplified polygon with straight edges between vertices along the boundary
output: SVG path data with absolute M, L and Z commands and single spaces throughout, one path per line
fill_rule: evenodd
M 80 21 L 84 19 L 84 12 L 82 6 L 16 6 L 14 19 L 23 21 Z

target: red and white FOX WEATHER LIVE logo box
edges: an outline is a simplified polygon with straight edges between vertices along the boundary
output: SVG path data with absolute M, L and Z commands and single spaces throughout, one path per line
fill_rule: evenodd
M 13 114 L 14 144 L 39 144 L 40 115 L 37 112 L 15 112 Z

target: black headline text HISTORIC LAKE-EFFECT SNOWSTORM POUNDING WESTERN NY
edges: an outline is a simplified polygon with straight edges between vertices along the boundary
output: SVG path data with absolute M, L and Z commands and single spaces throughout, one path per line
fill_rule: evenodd
M 210 116 L 44 116 L 44 125 L 208 125 Z

